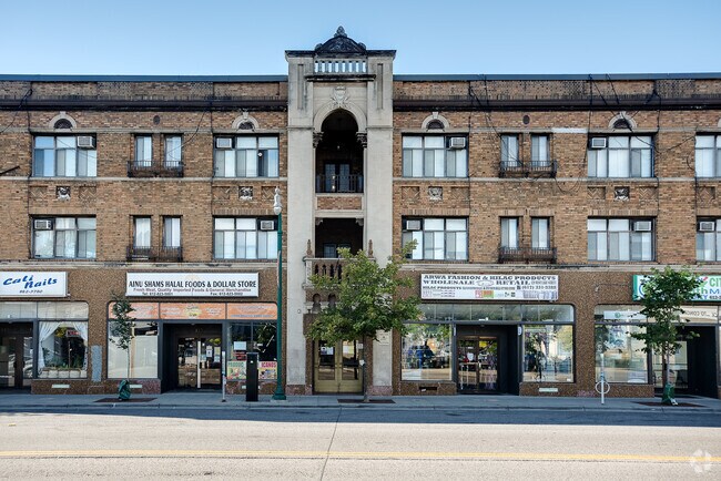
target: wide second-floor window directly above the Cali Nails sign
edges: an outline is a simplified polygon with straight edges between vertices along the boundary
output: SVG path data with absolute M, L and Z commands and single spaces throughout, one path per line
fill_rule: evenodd
M 32 222 L 34 258 L 95 258 L 94 217 L 45 217 Z

